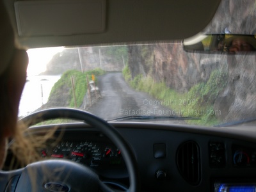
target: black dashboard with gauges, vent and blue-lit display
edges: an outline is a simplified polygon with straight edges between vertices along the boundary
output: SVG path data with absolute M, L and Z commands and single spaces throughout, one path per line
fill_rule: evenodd
M 218 127 L 111 124 L 136 155 L 141 191 L 255 191 L 256 143 L 252 135 Z M 49 127 L 31 131 L 43 134 Z M 89 125 L 60 125 L 56 138 L 47 141 L 39 153 L 42 159 L 84 164 L 116 186 L 129 184 L 122 151 Z

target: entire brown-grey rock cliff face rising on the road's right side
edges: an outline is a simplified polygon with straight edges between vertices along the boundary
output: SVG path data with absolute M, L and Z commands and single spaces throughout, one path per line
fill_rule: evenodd
M 206 33 L 256 33 L 255 1 L 223 1 Z M 159 45 L 129 46 L 129 68 L 132 77 L 138 74 L 164 81 L 177 92 L 188 92 L 209 79 L 211 72 L 228 72 L 227 86 L 214 101 L 220 110 L 219 120 L 241 120 L 256 116 L 256 58 L 251 55 L 198 54 L 183 51 L 180 42 Z

